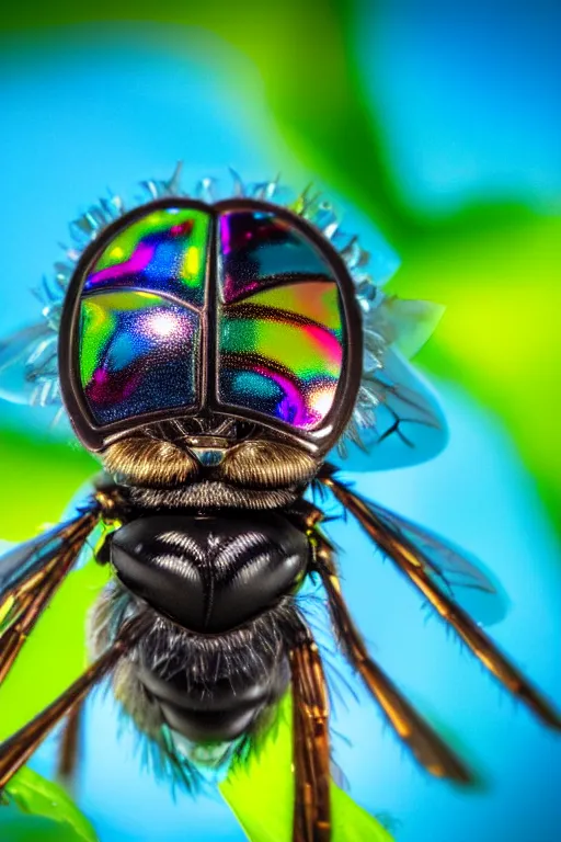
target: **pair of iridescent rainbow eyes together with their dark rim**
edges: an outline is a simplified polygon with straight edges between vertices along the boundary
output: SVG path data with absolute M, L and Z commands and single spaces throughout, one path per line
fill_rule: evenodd
M 64 399 L 92 450 L 209 412 L 323 448 L 360 376 L 343 262 L 296 215 L 245 200 L 164 200 L 114 223 L 80 261 L 61 335 Z

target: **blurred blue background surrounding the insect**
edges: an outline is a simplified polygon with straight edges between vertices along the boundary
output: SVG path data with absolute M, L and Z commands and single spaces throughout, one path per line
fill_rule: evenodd
M 362 8 L 356 50 L 415 212 L 439 217 L 484 195 L 551 214 L 561 187 L 559 13 L 539 3 L 512 15 L 488 4 L 373 10 Z M 314 175 L 280 135 L 255 66 L 199 27 L 98 23 L 13 35 L 0 90 L 2 334 L 36 316 L 27 289 L 58 258 L 68 220 L 106 185 L 130 196 L 138 180 L 167 177 L 180 159 L 185 185 L 207 174 L 227 183 L 228 166 L 248 181 L 280 171 L 296 187 Z M 365 238 L 378 237 L 350 203 L 346 212 Z M 493 634 L 561 699 L 558 535 L 508 429 L 453 379 L 435 385 L 451 430 L 446 452 L 360 477 L 359 488 L 492 568 L 512 603 Z M 526 409 L 530 419 L 531 400 Z M 37 423 L 21 409 L 0 413 L 7 429 Z M 389 818 L 400 842 L 557 842 L 559 739 L 483 674 L 353 524 L 332 534 L 344 547 L 348 602 L 381 664 L 486 782 L 463 794 L 428 780 L 354 683 L 356 701 L 346 694 L 334 719 L 335 760 L 353 797 Z M 218 797 L 174 801 L 140 769 L 134 736 L 117 738 L 108 696 L 95 696 L 88 719 L 80 804 L 102 842 L 243 839 Z M 44 747 L 35 767 L 48 771 L 51 754 Z

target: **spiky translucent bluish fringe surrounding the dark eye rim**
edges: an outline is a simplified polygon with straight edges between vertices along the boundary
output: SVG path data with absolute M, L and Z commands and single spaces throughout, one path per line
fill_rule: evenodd
M 345 459 L 350 447 L 367 454 L 373 444 L 385 441 L 393 433 L 410 446 L 411 443 L 400 431 L 403 423 L 443 428 L 444 422 L 434 401 L 427 400 L 424 395 L 425 387 L 420 384 L 416 388 L 411 383 L 412 377 L 414 379 L 412 369 L 403 373 L 400 361 L 400 356 L 411 357 L 424 344 L 436 327 L 443 308 L 428 301 L 385 295 L 381 285 L 387 277 L 375 276 L 370 254 L 363 249 L 358 237 L 345 234 L 341 217 L 331 202 L 311 185 L 295 197 L 278 178 L 245 184 L 236 171 L 230 170 L 230 175 L 232 183 L 227 193 L 220 191 L 219 182 L 213 178 L 201 179 L 188 192 L 181 184 L 180 163 L 169 179 L 141 181 L 140 193 L 130 205 L 126 205 L 121 195 L 108 193 L 72 220 L 69 225 L 70 246 L 62 247 L 64 257 L 55 263 L 51 275 L 43 277 L 38 288 L 34 289 L 42 304 L 41 321 L 0 341 L 0 397 L 21 402 L 21 395 L 14 397 L 2 386 L 7 375 L 20 366 L 23 367 L 21 389 L 26 387 L 27 391 L 25 402 L 54 407 L 56 418 L 64 413 L 58 372 L 58 331 L 65 296 L 83 251 L 108 225 L 129 210 L 161 198 L 191 197 L 213 204 L 234 196 L 277 204 L 306 219 L 336 249 L 353 280 L 363 319 L 363 376 L 351 420 L 337 445 L 339 457 Z M 398 375 L 393 371 L 396 366 Z M 404 385 L 399 382 L 400 378 L 409 382 Z M 389 422 L 386 420 L 382 425 L 379 423 L 380 409 L 389 418 Z

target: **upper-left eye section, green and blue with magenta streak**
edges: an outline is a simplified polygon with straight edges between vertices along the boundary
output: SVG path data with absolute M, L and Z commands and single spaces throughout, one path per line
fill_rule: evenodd
M 210 217 L 164 207 L 147 213 L 108 242 L 93 263 L 84 293 L 115 287 L 150 289 L 202 306 Z

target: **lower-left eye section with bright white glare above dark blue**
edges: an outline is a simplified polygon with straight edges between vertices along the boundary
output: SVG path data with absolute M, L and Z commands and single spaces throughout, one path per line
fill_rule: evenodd
M 201 317 L 153 293 L 82 300 L 80 382 L 98 424 L 192 407 L 197 400 Z

